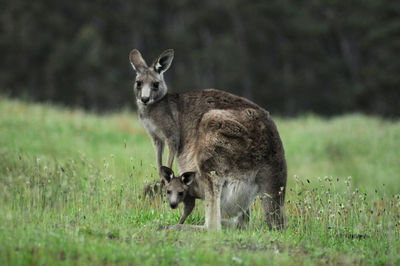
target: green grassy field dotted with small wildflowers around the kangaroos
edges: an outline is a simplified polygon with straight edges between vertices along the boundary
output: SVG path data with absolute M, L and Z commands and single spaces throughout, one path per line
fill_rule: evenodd
M 162 229 L 143 199 L 156 164 L 136 115 L 0 98 L 0 264 L 400 264 L 400 122 L 275 118 L 289 168 L 285 231 L 260 202 L 247 230 Z M 198 202 L 187 223 L 202 224 Z

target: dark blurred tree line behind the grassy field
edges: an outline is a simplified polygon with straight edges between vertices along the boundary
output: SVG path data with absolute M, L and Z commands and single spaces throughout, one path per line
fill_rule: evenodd
M 134 106 L 128 54 L 175 49 L 170 91 L 214 87 L 273 113 L 400 116 L 400 2 L 2 1 L 0 89 Z M 148 62 L 151 63 L 151 62 Z

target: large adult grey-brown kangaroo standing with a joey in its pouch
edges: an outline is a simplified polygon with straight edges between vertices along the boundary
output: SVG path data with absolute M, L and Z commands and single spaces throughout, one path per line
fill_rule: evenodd
M 166 50 L 148 66 L 138 50 L 129 55 L 139 120 L 153 140 L 160 176 L 166 143 L 167 166 L 176 157 L 179 172 L 195 172 L 203 186 L 205 228 L 221 228 L 221 206 L 229 217 L 239 216 L 257 195 L 268 226 L 283 228 L 286 160 L 269 113 L 214 89 L 168 93 L 163 74 L 173 57 Z

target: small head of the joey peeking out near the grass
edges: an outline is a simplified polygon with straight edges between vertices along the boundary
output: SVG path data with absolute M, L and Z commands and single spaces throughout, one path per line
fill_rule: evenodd
M 172 169 L 161 166 L 161 177 L 166 181 L 167 200 L 172 209 L 177 208 L 178 204 L 186 197 L 194 176 L 194 172 L 186 172 L 176 177 Z

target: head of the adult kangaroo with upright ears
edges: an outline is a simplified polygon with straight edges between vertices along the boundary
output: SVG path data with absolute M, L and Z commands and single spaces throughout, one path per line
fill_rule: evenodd
M 167 94 L 163 73 L 168 70 L 173 58 L 174 50 L 168 49 L 148 67 L 138 50 L 133 49 L 129 54 L 129 60 L 136 72 L 133 91 L 139 106 L 155 103 Z

